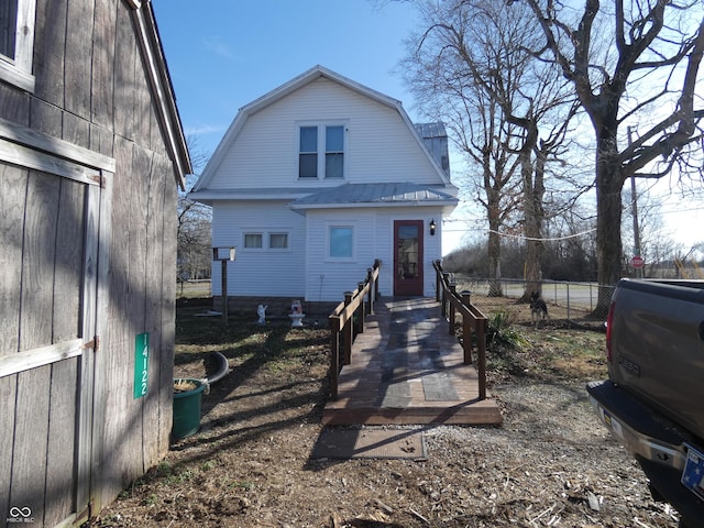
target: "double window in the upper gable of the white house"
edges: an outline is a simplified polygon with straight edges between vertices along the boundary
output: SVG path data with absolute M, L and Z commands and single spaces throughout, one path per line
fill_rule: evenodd
M 344 177 L 344 127 L 342 124 L 298 128 L 298 177 Z

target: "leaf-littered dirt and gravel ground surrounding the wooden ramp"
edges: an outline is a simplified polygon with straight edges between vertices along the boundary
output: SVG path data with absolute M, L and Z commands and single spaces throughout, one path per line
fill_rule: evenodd
M 213 350 L 232 372 L 204 396 L 201 430 L 91 527 L 678 526 L 588 406 L 585 382 L 605 376 L 603 334 L 557 315 L 538 329 L 517 316 L 528 344 L 490 354 L 504 425 L 425 428 L 422 461 L 311 458 L 323 431 L 327 329 L 231 318 L 239 330 L 208 330 L 217 321 L 191 327 L 186 316 L 177 375 L 201 377 Z

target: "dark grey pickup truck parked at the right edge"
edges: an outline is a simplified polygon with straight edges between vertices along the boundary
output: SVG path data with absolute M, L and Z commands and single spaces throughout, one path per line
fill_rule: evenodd
M 704 280 L 619 280 L 606 358 L 609 378 L 586 386 L 596 414 L 680 526 L 704 527 Z

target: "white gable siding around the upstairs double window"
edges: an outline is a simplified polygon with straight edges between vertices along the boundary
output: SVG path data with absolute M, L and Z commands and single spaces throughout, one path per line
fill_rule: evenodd
M 321 77 L 252 114 L 224 154 L 208 187 L 340 185 L 340 180 L 298 180 L 297 124 L 316 121 L 346 123 L 346 183 L 441 183 L 395 109 Z

